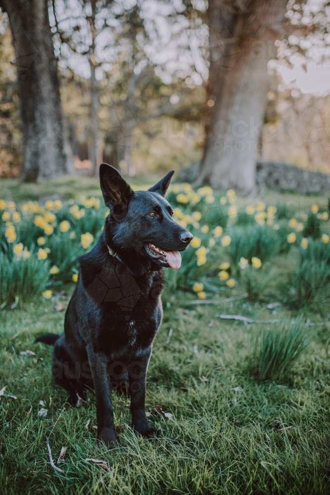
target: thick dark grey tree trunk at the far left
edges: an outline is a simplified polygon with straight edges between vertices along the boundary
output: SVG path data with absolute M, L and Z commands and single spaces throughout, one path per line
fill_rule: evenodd
M 67 172 L 64 122 L 47 0 L 0 0 L 16 54 L 23 126 L 22 180 Z

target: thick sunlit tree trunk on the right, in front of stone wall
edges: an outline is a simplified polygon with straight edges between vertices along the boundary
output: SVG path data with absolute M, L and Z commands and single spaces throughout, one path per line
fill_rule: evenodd
M 219 1 L 209 2 L 214 9 L 209 19 L 219 15 Z M 243 194 L 255 189 L 255 157 L 269 87 L 267 63 L 276 56 L 274 41 L 281 35 L 286 3 L 252 0 L 244 10 L 228 12 L 226 25 L 232 26 L 233 37 L 228 30 L 225 45 L 234 49 L 222 53 L 221 42 L 214 43 L 210 36 L 211 60 L 221 54 L 217 79 L 215 64 L 210 66 L 212 91 L 216 95 L 218 90 L 218 94 L 197 184 L 209 182 L 215 189 L 235 187 Z

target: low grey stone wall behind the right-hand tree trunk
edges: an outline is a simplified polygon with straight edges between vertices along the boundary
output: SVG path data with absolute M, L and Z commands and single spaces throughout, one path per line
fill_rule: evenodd
M 198 176 L 198 163 L 185 168 L 178 175 L 178 182 L 193 182 Z M 302 194 L 330 191 L 330 175 L 310 172 L 285 162 L 258 161 L 256 185 L 259 192 L 265 188 L 276 191 L 297 191 Z

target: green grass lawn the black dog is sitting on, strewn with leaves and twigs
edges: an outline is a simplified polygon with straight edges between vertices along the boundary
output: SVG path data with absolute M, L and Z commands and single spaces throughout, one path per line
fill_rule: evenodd
M 63 181 L 61 188 L 53 182 L 28 185 L 20 192 L 17 182 L 2 181 L 1 192 L 6 190 L 17 201 L 56 192 L 63 199 L 96 195 L 96 181 L 93 191 L 84 181 Z M 284 201 L 297 210 L 309 209 L 316 200 L 327 202 L 321 196 L 275 192 L 268 192 L 266 199 Z M 244 205 L 248 200 L 238 201 Z M 149 421 L 159 437 L 137 437 L 130 427 L 128 399 L 114 394 L 120 441 L 112 449 L 95 444 L 93 392 L 80 408 L 69 406 L 66 392 L 51 381 L 52 349 L 34 344 L 42 333 L 62 332 L 64 311 L 54 307 L 67 303 L 74 284 L 54 286 L 52 299 L 38 296 L 12 309 L 3 306 L 0 390 L 6 388 L 0 396 L 0 493 L 330 493 L 330 320 L 325 321 L 330 304 L 326 297 L 297 310 L 283 302 L 296 255 L 291 249 L 272 259 L 272 277 L 257 302 L 247 300 L 240 280 L 234 289 L 209 289 L 212 304 L 193 302 L 196 295 L 191 292 L 165 289 L 164 319 L 154 343 L 146 397 Z M 207 282 L 212 287 L 205 276 Z M 267 308 L 277 301 L 281 304 Z M 307 327 L 311 342 L 280 381 L 259 381 L 254 341 L 269 324 L 245 325 L 220 319 L 220 314 L 262 321 L 301 315 L 317 325 Z M 27 350 L 35 355 L 27 355 Z M 173 417 L 161 415 L 157 405 Z M 38 416 L 41 409 L 47 409 L 46 417 Z M 58 466 L 62 473 L 49 464 L 46 437 L 54 425 L 49 442 L 56 466 L 61 447 L 67 447 L 65 463 Z M 109 468 L 87 458 L 106 461 Z

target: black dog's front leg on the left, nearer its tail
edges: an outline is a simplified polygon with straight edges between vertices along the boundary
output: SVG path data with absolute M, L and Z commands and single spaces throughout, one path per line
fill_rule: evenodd
M 91 366 L 96 401 L 97 441 L 110 444 L 117 440 L 113 422 L 113 407 L 110 396 L 110 380 L 105 356 L 95 354 L 87 349 Z

